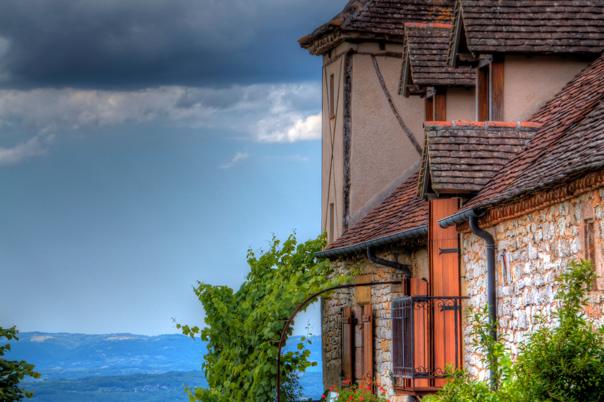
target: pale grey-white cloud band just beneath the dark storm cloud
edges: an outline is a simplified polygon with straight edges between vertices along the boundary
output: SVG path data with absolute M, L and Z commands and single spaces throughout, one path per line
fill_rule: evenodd
M 319 83 L 223 89 L 162 86 L 143 90 L 0 90 L 0 125 L 39 133 L 94 130 L 124 122 L 223 128 L 258 142 L 320 138 Z

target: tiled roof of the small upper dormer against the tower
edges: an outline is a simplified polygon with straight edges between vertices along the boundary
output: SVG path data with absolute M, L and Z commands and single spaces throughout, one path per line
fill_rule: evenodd
M 411 64 L 411 80 L 419 86 L 474 86 L 475 75 L 470 66 L 446 66 L 451 25 L 405 24 L 406 52 Z

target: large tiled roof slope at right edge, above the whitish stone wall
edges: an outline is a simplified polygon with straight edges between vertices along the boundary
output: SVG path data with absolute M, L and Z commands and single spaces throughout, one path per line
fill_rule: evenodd
M 604 55 L 531 118 L 544 125 L 467 206 L 482 208 L 604 168 Z

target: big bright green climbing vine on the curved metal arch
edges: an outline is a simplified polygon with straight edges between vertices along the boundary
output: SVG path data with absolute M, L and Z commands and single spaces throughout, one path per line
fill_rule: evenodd
M 345 280 L 328 280 L 333 272 L 330 263 L 315 261 L 314 253 L 325 244 L 324 234 L 301 244 L 293 234 L 283 245 L 273 237 L 269 249 L 260 251 L 259 257 L 248 250 L 250 272 L 239 291 L 198 283 L 194 291 L 204 305 L 207 327 L 200 330 L 177 324 L 185 335 L 200 334 L 208 342 L 202 365 L 208 388 L 189 390 L 191 401 L 274 400 L 278 341 L 285 321 L 311 295 Z M 304 344 L 298 344 L 297 351 L 283 353 L 281 378 L 316 365 L 307 359 L 309 354 Z

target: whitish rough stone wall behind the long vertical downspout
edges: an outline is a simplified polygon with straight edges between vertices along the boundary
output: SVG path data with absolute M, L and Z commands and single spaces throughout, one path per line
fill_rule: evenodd
M 586 258 L 586 230 L 593 228 L 591 257 L 596 274 L 604 277 L 602 233 L 604 231 L 604 189 L 594 190 L 559 204 L 501 221 L 487 228 L 496 242 L 497 319 L 500 333 L 510 341 L 512 354 L 530 333 L 535 315 L 550 315 L 556 309 L 556 278 L 572 259 Z M 591 224 L 591 225 L 590 225 Z M 589 237 L 589 234 L 588 234 Z M 486 248 L 484 241 L 472 233 L 461 234 L 462 294 L 474 308 L 487 304 Z M 589 248 L 589 246 L 588 246 Z M 590 292 L 586 313 L 599 324 L 604 323 L 602 293 L 604 278 Z M 472 375 L 487 375 L 464 323 L 466 368 Z

